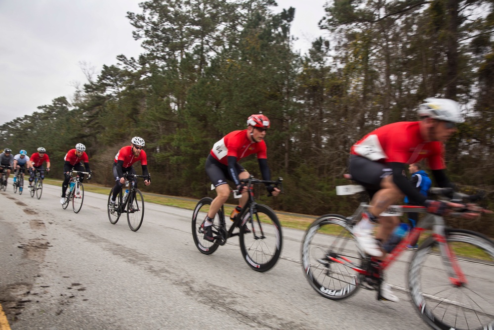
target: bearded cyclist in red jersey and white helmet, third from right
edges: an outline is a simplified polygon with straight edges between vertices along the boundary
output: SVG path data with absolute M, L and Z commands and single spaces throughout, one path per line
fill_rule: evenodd
M 142 138 L 133 137 L 130 145 L 124 146 L 119 150 L 115 156 L 113 162 L 113 176 L 115 177 L 115 187 L 113 188 L 113 195 L 110 199 L 108 208 L 110 212 L 115 212 L 115 200 L 117 195 L 122 189 L 125 183 L 124 173 L 136 174 L 133 163 L 140 161 L 142 167 L 142 175 L 148 175 L 148 160 L 146 152 L 142 149 L 146 143 Z M 137 187 L 137 178 L 134 178 L 135 187 Z M 150 180 L 144 180 L 144 185 L 151 185 Z

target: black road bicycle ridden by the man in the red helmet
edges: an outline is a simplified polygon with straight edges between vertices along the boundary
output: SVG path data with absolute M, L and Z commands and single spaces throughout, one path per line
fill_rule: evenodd
M 204 254 L 211 254 L 220 245 L 225 245 L 228 238 L 239 236 L 240 249 L 247 265 L 255 271 L 265 272 L 270 270 L 280 257 L 283 235 L 280 221 L 275 212 L 267 205 L 256 203 L 253 185 L 270 184 L 282 189 L 283 179 L 265 181 L 257 180 L 250 176 L 250 178 L 240 181 L 247 184 L 248 200 L 247 204 L 235 217 L 230 229 L 227 230 L 225 210 L 224 205 L 222 205 L 213 219 L 212 233 L 214 241 L 210 242 L 204 239 L 202 225 L 213 200 L 210 197 L 204 197 L 197 203 L 192 215 L 192 237 L 199 251 Z M 231 190 L 230 192 L 240 198 L 240 195 L 237 195 L 237 190 Z M 250 232 L 244 232 L 245 225 L 247 225 Z M 235 228 L 239 228 L 238 233 L 233 233 Z

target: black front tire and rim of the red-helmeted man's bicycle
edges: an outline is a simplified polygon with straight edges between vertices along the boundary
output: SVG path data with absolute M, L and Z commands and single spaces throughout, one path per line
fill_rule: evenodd
M 273 225 L 273 233 L 274 233 L 274 237 L 275 237 L 275 244 L 274 244 L 274 253 L 272 253 L 272 257 L 271 259 L 267 260 L 266 262 L 264 262 L 264 259 L 261 258 L 262 262 L 259 262 L 256 260 L 253 260 L 252 256 L 249 255 L 249 251 L 250 250 L 250 246 L 246 246 L 246 235 L 253 235 L 253 233 L 250 233 L 250 234 L 246 234 L 244 233 L 244 227 L 243 226 L 240 226 L 240 235 L 239 235 L 239 240 L 240 240 L 240 250 L 242 251 L 242 255 L 244 257 L 244 260 L 245 262 L 247 263 L 247 265 L 253 269 L 254 271 L 257 271 L 257 272 L 266 272 L 268 270 L 270 270 L 271 268 L 273 268 L 276 263 L 278 262 L 278 259 L 280 258 L 280 255 L 281 255 L 281 250 L 283 248 L 283 231 L 282 231 L 282 227 L 281 227 L 281 224 L 280 224 L 280 220 L 278 220 L 278 216 L 276 215 L 276 213 L 267 205 L 264 205 L 264 204 L 257 204 L 255 209 L 257 210 L 257 213 L 263 213 L 265 214 L 271 221 L 272 221 L 272 225 Z M 257 213 L 255 216 L 257 216 Z M 248 218 L 250 218 L 250 213 L 247 212 L 245 215 L 244 215 L 244 223 L 248 220 Z M 255 219 L 254 219 L 255 221 Z M 271 224 L 270 224 L 271 225 Z M 269 229 L 268 226 L 264 225 L 263 226 L 263 230 L 264 231 L 267 231 Z M 258 232 L 257 235 L 259 235 L 260 233 Z M 254 249 L 255 251 L 259 251 L 260 249 L 258 247 L 261 247 L 261 250 L 262 250 L 262 247 L 260 245 L 260 243 L 262 242 L 260 239 L 256 239 L 254 240 L 256 242 L 256 248 Z M 265 246 L 269 249 L 268 246 Z M 263 252 L 263 250 L 262 250 Z M 259 254 L 262 254 L 262 256 L 266 256 L 267 254 L 265 253 L 259 253 Z M 271 251 L 268 251 L 268 252 L 271 252 Z M 257 253 L 254 253 L 254 254 L 257 254 Z

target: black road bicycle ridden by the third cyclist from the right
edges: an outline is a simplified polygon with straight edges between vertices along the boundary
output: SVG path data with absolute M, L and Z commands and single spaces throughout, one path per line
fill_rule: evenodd
M 132 232 L 137 232 L 141 228 L 142 220 L 144 219 L 144 197 L 142 197 L 141 190 L 135 187 L 134 178 L 144 178 L 144 180 L 151 181 L 151 175 L 136 175 L 130 173 L 124 173 L 125 187 L 128 187 L 128 194 L 124 199 L 123 189 L 120 189 L 117 200 L 115 201 L 115 211 L 110 210 L 110 199 L 113 195 L 113 189 L 110 190 L 108 195 L 108 219 L 110 223 L 115 225 L 119 221 L 122 213 L 127 214 L 128 227 Z M 131 183 L 129 185 L 129 182 Z M 123 188 L 123 187 L 122 187 Z

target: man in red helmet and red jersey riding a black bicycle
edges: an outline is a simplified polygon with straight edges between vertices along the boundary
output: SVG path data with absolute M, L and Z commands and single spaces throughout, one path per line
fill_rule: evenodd
M 259 168 L 263 180 L 271 180 L 267 162 L 267 148 L 264 137 L 270 122 L 263 114 L 254 114 L 247 119 L 247 129 L 243 131 L 233 131 L 214 143 L 209 156 L 206 159 L 206 174 L 216 188 L 216 197 L 211 202 L 211 206 L 204 222 L 204 238 L 213 241 L 211 225 L 212 219 L 230 196 L 230 187 L 227 178 L 232 180 L 235 188 L 242 192 L 239 198 L 239 206 L 247 203 L 247 188 L 240 183 L 240 179 L 247 179 L 249 173 L 238 161 L 251 154 L 257 154 Z M 266 189 L 273 196 L 280 193 L 280 189 L 273 186 L 266 186 Z M 244 229 L 247 233 L 250 230 L 247 226 Z

